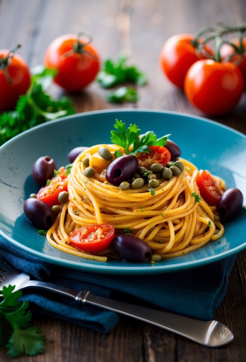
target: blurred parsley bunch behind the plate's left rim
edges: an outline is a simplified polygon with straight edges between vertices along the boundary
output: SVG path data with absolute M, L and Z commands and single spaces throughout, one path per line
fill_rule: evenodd
M 26 94 L 19 97 L 13 111 L 0 115 L 0 146 L 19 133 L 65 115 L 74 114 L 74 106 L 67 97 L 54 100 L 44 89 L 50 85 L 54 70 L 41 69 L 31 76 Z

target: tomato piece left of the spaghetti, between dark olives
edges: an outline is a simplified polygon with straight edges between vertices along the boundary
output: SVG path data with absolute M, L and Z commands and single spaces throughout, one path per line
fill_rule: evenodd
M 67 170 L 62 166 L 58 171 L 57 175 L 53 177 L 49 184 L 42 187 L 37 198 L 47 203 L 50 207 L 58 205 L 58 195 L 61 191 L 67 191 Z

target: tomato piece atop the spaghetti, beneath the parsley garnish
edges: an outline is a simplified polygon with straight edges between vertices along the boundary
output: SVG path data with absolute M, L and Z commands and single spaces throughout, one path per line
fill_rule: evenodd
M 163 166 L 171 160 L 171 153 L 163 146 L 149 146 L 150 153 L 138 152 L 139 166 L 150 168 L 153 163 L 161 163 Z

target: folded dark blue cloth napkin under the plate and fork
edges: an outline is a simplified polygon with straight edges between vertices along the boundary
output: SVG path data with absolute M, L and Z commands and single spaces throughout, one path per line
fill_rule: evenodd
M 93 294 L 122 299 L 131 303 L 137 297 L 141 305 L 147 302 L 171 312 L 201 320 L 214 318 L 228 283 L 236 254 L 196 269 L 158 275 L 106 275 L 67 269 L 49 264 L 18 249 L 0 237 L 0 256 L 13 266 L 39 280 Z M 32 293 L 34 293 L 32 291 Z M 123 293 L 123 294 L 122 294 Z M 100 332 L 108 332 L 120 320 L 117 313 L 93 306 L 67 304 L 61 298 L 50 299 L 45 294 L 25 294 L 34 311 L 58 317 Z

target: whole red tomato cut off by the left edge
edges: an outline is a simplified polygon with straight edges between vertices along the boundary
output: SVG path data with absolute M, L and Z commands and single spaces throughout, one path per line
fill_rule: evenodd
M 14 51 L 0 50 L 0 111 L 13 109 L 19 96 L 30 86 L 28 65 Z

